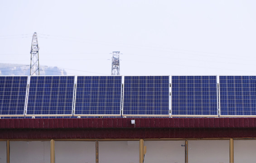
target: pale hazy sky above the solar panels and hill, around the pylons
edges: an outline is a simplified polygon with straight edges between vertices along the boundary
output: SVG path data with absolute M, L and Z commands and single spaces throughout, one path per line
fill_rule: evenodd
M 68 75 L 256 75 L 256 0 L 0 0 L 0 63 Z

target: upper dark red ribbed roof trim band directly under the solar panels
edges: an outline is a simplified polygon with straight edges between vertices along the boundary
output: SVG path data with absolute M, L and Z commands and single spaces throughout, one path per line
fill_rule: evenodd
M 131 124 L 135 120 L 135 125 Z M 0 119 L 0 129 L 255 128 L 256 118 Z

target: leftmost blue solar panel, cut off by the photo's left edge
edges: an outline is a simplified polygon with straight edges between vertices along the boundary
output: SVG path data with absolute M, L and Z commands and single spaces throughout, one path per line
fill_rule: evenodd
M 28 77 L 0 76 L 0 115 L 24 115 Z

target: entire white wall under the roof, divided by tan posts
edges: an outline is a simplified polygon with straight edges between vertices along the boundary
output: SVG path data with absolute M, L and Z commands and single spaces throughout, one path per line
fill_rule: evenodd
M 144 141 L 144 163 L 184 163 L 185 141 Z M 95 163 L 95 141 L 55 141 L 56 163 Z M 235 163 L 255 163 L 256 140 L 234 140 Z M 6 163 L 0 141 L 0 163 Z M 10 141 L 11 163 L 49 163 L 50 141 Z M 229 163 L 229 140 L 188 140 L 189 163 Z M 99 163 L 139 163 L 139 141 L 99 141 Z

